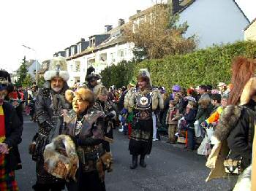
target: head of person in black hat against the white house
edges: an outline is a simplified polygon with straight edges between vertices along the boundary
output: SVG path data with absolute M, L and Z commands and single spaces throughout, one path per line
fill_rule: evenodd
M 94 87 L 98 85 L 97 81 L 102 78 L 99 74 L 95 74 L 94 72 L 95 69 L 92 66 L 87 69 L 86 82 L 83 85 L 83 87 L 89 88 L 91 91 L 93 91 Z

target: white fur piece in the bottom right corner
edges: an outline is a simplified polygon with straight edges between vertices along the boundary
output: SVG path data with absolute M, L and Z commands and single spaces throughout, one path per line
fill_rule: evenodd
M 233 189 L 233 191 L 250 191 L 251 190 L 251 175 L 252 175 L 252 165 L 249 165 L 238 178 L 238 182 Z

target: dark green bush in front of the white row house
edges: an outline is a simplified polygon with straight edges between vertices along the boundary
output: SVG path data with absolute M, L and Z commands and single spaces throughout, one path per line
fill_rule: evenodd
M 127 85 L 132 79 L 134 64 L 132 61 L 121 61 L 117 65 L 108 66 L 100 75 L 102 76 L 102 83 L 106 87 L 116 85 L 122 87 Z

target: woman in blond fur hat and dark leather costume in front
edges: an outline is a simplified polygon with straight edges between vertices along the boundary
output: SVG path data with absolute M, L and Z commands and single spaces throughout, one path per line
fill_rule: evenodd
M 64 111 L 64 133 L 75 142 L 79 157 L 77 182 L 67 183 L 68 190 L 104 191 L 105 170 L 110 171 L 111 157 L 105 152 L 105 114 L 94 106 L 94 94 L 88 88 L 67 90 L 72 110 Z

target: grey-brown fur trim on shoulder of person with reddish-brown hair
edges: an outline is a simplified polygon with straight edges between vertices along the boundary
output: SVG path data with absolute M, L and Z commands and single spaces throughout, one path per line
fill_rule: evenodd
M 219 124 L 214 130 L 214 136 L 219 141 L 224 141 L 229 136 L 230 131 L 235 127 L 241 116 L 241 108 L 238 106 L 227 106 L 219 119 Z

